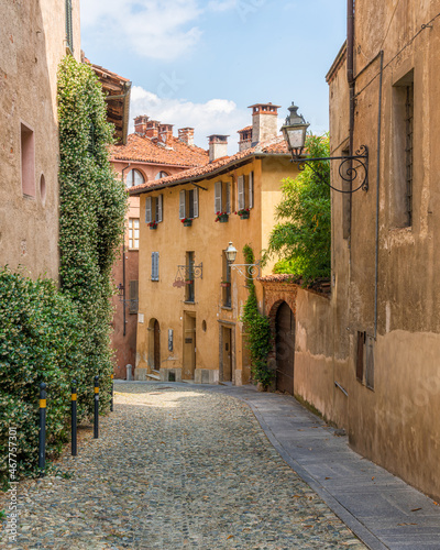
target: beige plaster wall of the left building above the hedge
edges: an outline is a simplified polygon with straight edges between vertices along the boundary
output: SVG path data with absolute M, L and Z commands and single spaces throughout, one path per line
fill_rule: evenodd
M 0 263 L 32 277 L 58 276 L 58 128 L 56 74 L 66 55 L 64 3 L 0 4 Z M 80 61 L 79 0 L 73 1 L 75 57 Z M 33 132 L 30 188 L 22 189 L 22 124 Z

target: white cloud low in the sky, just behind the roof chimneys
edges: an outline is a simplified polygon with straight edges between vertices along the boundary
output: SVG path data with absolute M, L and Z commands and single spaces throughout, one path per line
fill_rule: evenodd
M 174 124 L 176 136 L 179 128 L 194 128 L 196 145 L 204 148 L 208 148 L 208 135 L 229 135 L 230 154 L 238 151 L 237 131 L 251 124 L 251 111 L 241 110 L 233 101 L 227 99 L 210 99 L 205 103 L 194 103 L 185 99 L 160 98 L 140 86 L 133 86 L 131 120 L 133 121 L 139 114 L 147 114 L 164 124 Z M 131 124 L 130 132 L 133 132 L 133 122 Z

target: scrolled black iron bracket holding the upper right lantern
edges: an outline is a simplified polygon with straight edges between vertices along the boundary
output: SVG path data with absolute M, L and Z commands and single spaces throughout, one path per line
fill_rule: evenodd
M 345 191 L 343 189 L 338 189 L 326 182 L 319 170 L 314 167 L 314 163 L 322 161 L 341 161 L 338 168 L 339 175 L 343 182 L 354 185 L 359 184 L 358 187 Z M 355 155 L 352 156 L 327 156 L 318 158 L 300 158 L 298 156 L 293 156 L 293 162 L 298 164 L 299 170 L 304 170 L 306 166 L 309 166 L 319 179 L 334 191 L 352 194 L 359 191 L 360 189 L 364 191 L 369 190 L 369 147 L 366 145 L 361 145 L 355 152 Z

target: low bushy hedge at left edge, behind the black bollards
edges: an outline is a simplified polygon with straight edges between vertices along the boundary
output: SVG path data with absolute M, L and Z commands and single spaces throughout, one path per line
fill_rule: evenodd
M 18 474 L 33 471 L 38 449 L 38 396 L 47 385 L 47 454 L 67 440 L 70 383 L 85 385 L 84 322 L 53 280 L 0 272 L 0 481 L 8 477 L 9 429 L 16 429 Z M 84 407 L 79 415 L 84 416 Z

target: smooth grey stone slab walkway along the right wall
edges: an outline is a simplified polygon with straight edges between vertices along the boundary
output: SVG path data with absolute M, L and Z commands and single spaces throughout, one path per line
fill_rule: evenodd
M 439 505 L 352 451 L 294 397 L 252 386 L 211 391 L 246 402 L 284 460 L 369 548 L 440 550 Z

